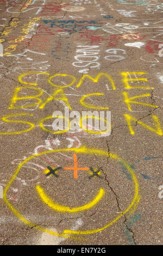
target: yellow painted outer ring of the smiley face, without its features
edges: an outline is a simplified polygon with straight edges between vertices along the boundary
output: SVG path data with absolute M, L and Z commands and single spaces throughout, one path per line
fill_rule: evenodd
M 71 239 L 77 239 L 77 237 L 73 237 L 73 236 L 70 236 L 70 235 L 65 235 L 65 234 L 77 234 L 77 235 L 86 235 L 86 234 L 93 234 L 93 233 L 97 233 L 99 231 L 102 231 L 106 228 L 108 228 L 110 225 L 114 224 L 119 218 L 121 218 L 124 214 L 126 214 L 131 208 L 133 208 L 135 205 L 137 205 L 139 203 L 139 200 L 140 200 L 140 196 L 139 196 L 139 184 L 137 182 L 137 178 L 136 178 L 136 175 L 133 171 L 133 169 L 129 166 L 129 164 L 124 161 L 123 159 L 121 159 L 120 157 L 118 157 L 117 155 L 115 154 L 112 154 L 110 153 L 109 156 L 112 158 L 112 159 L 115 159 L 117 160 L 118 162 L 121 162 L 129 171 L 129 173 L 131 174 L 131 178 L 132 180 L 134 181 L 134 184 L 135 184 L 135 191 L 134 191 L 134 198 L 132 200 L 132 202 L 130 203 L 130 205 L 128 206 L 128 208 L 126 210 L 124 210 L 123 212 L 120 213 L 120 215 L 118 215 L 113 221 L 111 221 L 110 223 L 108 223 L 107 225 L 105 225 L 103 228 L 99 228 L 99 229 L 94 229 L 94 230 L 64 230 L 62 234 L 59 234 L 57 232 L 54 232 L 54 231 L 51 231 L 51 230 L 48 230 L 46 228 L 41 228 L 40 226 L 37 226 L 35 225 L 34 223 L 32 222 L 29 222 L 28 220 L 26 220 L 26 218 L 24 218 L 20 212 L 18 212 L 14 206 L 12 206 L 9 202 L 9 200 L 7 199 L 7 191 L 9 190 L 9 187 L 11 186 L 11 183 L 15 180 L 17 174 L 19 173 L 21 167 L 26 163 L 28 162 L 29 160 L 33 159 L 34 157 L 37 157 L 37 156 L 41 156 L 41 155 L 44 155 L 44 154 L 49 154 L 49 153 L 57 153 L 57 152 L 67 152 L 67 151 L 74 151 L 75 153 L 78 153 L 78 154 L 98 154 L 98 155 L 101 155 L 101 156 L 107 156 L 108 157 L 108 152 L 107 151 L 104 151 L 104 150 L 99 150 L 99 149 L 91 149 L 91 148 L 86 148 L 86 147 L 81 147 L 81 148 L 71 148 L 71 149 L 55 149 L 55 150 L 49 150 L 49 151 L 45 151 L 45 152 L 42 152 L 42 153 L 39 153 L 39 154 L 36 154 L 36 155 L 33 155 L 33 156 L 30 156 L 28 157 L 28 159 L 24 160 L 22 163 L 20 163 L 16 169 L 16 172 L 15 174 L 12 176 L 12 178 L 9 180 L 7 186 L 5 187 L 5 190 L 4 190 L 4 193 L 3 193 L 3 199 L 4 199 L 4 202 L 7 203 L 7 205 L 9 206 L 9 208 L 12 210 L 12 212 L 14 212 L 14 214 L 20 218 L 20 220 L 22 222 L 24 222 L 25 224 L 29 225 L 30 227 L 34 227 L 35 229 L 37 230 L 40 230 L 40 231 L 43 231 L 43 232 L 47 232 L 49 234 L 52 234 L 52 235 L 57 235 L 57 236 L 63 236 L 63 237 L 66 237 L 66 238 L 71 238 Z M 135 208 L 134 208 L 135 210 Z M 132 212 L 133 213 L 133 212 Z

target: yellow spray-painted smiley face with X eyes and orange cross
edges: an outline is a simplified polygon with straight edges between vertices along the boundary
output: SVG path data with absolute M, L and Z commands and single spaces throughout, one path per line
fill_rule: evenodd
M 49 234 L 53 234 L 53 235 L 58 235 L 58 236 L 64 236 L 64 237 L 71 237 L 76 239 L 76 237 L 73 237 L 72 235 L 86 235 L 86 234 L 92 234 L 92 233 L 97 233 L 99 231 L 102 231 L 106 228 L 108 228 L 110 225 L 114 224 L 117 220 L 119 220 L 124 214 L 126 214 L 127 212 L 133 212 L 137 203 L 140 200 L 140 196 L 139 196 L 139 186 L 137 183 L 137 179 L 136 179 L 136 175 L 133 172 L 133 169 L 129 166 L 129 164 L 127 162 L 125 162 L 124 160 L 122 160 L 120 157 L 118 157 L 115 154 L 110 153 L 110 159 L 111 160 L 116 160 L 117 162 L 123 164 L 123 166 L 128 170 L 128 172 L 130 173 L 131 176 L 131 180 L 133 181 L 134 184 L 134 196 L 131 199 L 131 202 L 129 203 L 129 205 L 127 206 L 126 209 L 124 209 L 122 212 L 118 212 L 118 215 L 114 218 L 114 220 L 109 221 L 109 223 L 106 223 L 103 227 L 100 228 L 96 228 L 96 229 L 89 229 L 89 230 L 73 230 L 73 229 L 65 229 L 62 231 L 62 233 L 57 233 L 54 232 L 52 230 L 48 230 L 46 228 L 41 227 L 41 225 L 36 225 L 33 222 L 30 222 L 26 217 L 23 216 L 23 214 L 20 213 L 20 210 L 16 209 L 15 204 L 11 204 L 10 203 L 10 199 L 8 199 L 8 193 L 10 193 L 10 188 L 11 186 L 14 184 L 14 182 L 16 181 L 16 178 L 18 176 L 18 174 L 20 173 L 20 171 L 22 171 L 23 167 L 25 166 L 25 164 L 32 162 L 32 161 L 36 161 L 37 157 L 48 157 L 50 154 L 57 154 L 57 153 L 61 153 L 61 154 L 65 154 L 65 153 L 71 153 L 73 154 L 73 160 L 74 160 L 74 167 L 64 167 L 65 170 L 68 169 L 73 169 L 74 171 L 74 178 L 77 178 L 78 175 L 78 170 L 86 170 L 87 172 L 90 172 L 88 167 L 84 167 L 84 168 L 79 168 L 77 166 L 77 155 L 84 155 L 84 156 L 98 156 L 98 157 L 108 157 L 108 152 L 107 151 L 103 151 L 103 150 L 98 150 L 98 149 L 91 149 L 91 148 L 86 148 L 86 147 L 81 147 L 81 148 L 72 148 L 72 149 L 57 149 L 57 150 L 50 150 L 50 151 L 46 151 L 46 152 L 42 152 L 39 153 L 37 155 L 33 155 L 28 157 L 28 159 L 24 160 L 22 163 L 19 164 L 19 166 L 16 169 L 15 174 L 12 176 L 11 180 L 8 182 L 7 187 L 5 188 L 4 191 L 4 200 L 5 202 L 8 204 L 9 208 L 14 212 L 14 214 L 20 218 L 21 221 L 23 221 L 24 223 L 30 225 L 30 227 L 35 227 L 38 230 L 41 231 L 45 231 Z M 43 175 L 45 176 L 53 176 L 58 175 L 58 172 L 60 172 L 60 170 L 58 169 L 56 171 L 56 168 L 51 168 L 46 166 L 46 168 L 43 170 Z M 94 173 L 93 173 L 94 172 Z M 97 169 L 92 170 L 92 176 L 98 176 L 100 175 L 100 172 Z M 44 182 L 44 181 L 43 181 Z M 43 183 L 42 183 L 43 184 Z M 94 196 L 94 198 L 92 198 L 90 203 L 86 203 L 82 206 L 77 206 L 77 207 L 72 207 L 70 208 L 69 206 L 65 206 L 59 203 L 55 203 L 55 200 L 53 200 L 51 197 L 48 196 L 48 192 L 45 191 L 42 187 L 42 185 L 40 185 L 40 182 L 37 182 L 34 186 L 34 193 L 37 194 L 37 197 L 40 200 L 40 203 L 43 202 L 46 204 L 46 207 L 48 207 L 48 209 L 52 209 L 55 212 L 66 212 L 68 214 L 74 214 L 76 212 L 80 212 L 80 211 L 86 211 L 89 210 L 90 208 L 93 208 L 93 206 L 97 205 L 98 202 L 100 200 L 103 200 L 103 198 L 105 197 L 105 191 L 103 188 L 99 188 Z M 54 195 L 55 198 L 55 195 Z M 20 206 L 19 206 L 20 207 Z

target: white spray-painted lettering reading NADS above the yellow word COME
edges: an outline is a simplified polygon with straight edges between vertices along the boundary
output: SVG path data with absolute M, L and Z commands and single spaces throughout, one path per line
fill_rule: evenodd
M 73 62 L 73 66 L 77 66 L 79 68 L 84 68 L 88 66 L 90 66 L 89 68 L 97 68 L 100 65 L 100 63 L 97 62 L 97 60 L 99 59 L 97 55 L 100 52 L 100 50 L 97 50 L 99 47 L 98 45 L 78 45 L 77 47 L 80 48 L 77 48 L 76 50 L 76 56 L 74 56 L 74 58 L 77 60 L 77 62 Z M 79 70 L 78 72 L 82 71 L 83 70 Z

